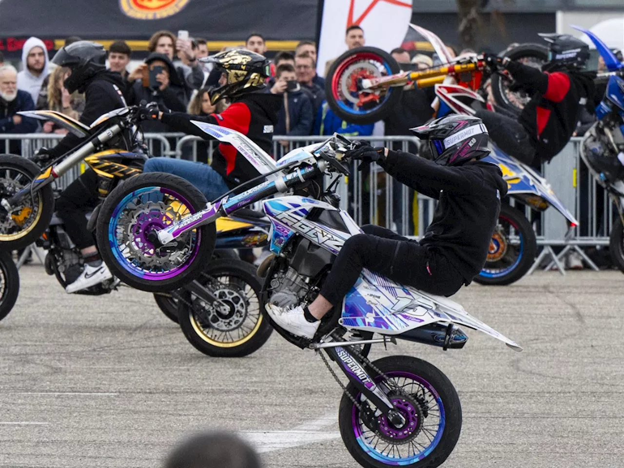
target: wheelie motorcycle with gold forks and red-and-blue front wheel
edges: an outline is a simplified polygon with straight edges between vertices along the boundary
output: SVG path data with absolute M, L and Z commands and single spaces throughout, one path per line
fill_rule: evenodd
M 404 87 L 435 86 L 436 117 L 453 113 L 474 115 L 475 109 L 484 109 L 484 99 L 476 91 L 488 76 L 497 78 L 499 95 L 509 94 L 509 85 L 502 84 L 509 82 L 509 76 L 491 69 L 483 57 L 461 56 L 453 60 L 435 34 L 418 26 L 411 27 L 431 42 L 443 62 L 449 63 L 422 71 L 401 72 L 399 64 L 380 49 L 361 47 L 345 52 L 334 62 L 328 74 L 331 79 L 326 81 L 328 104 L 341 119 L 363 124 L 383 118 L 401 99 Z M 527 52 L 519 51 L 518 57 L 523 53 Z M 509 109 L 510 104 L 501 107 Z M 566 218 L 571 233 L 578 222 L 558 200 L 548 182 L 529 165 L 494 144 L 491 150 L 487 160 L 502 170 L 509 185 L 508 197 L 537 212 L 555 207 Z M 531 223 L 523 212 L 505 204 L 484 269 L 475 281 L 488 285 L 513 283 L 530 270 L 536 252 L 537 239 Z

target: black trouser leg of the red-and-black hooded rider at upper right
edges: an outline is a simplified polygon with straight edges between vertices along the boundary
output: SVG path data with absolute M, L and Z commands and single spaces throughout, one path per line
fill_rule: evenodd
M 533 161 L 535 148 L 529 134 L 517 120 L 489 110 L 477 110 L 475 115 L 483 120 L 490 139 L 497 147 L 525 164 Z

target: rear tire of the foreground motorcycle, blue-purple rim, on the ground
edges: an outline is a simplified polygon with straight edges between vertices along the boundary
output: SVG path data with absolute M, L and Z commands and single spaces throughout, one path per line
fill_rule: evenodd
M 343 394 L 338 424 L 347 450 L 366 468 L 440 466 L 455 448 L 462 426 L 461 403 L 453 384 L 435 366 L 411 356 L 389 356 L 373 364 L 419 406 L 415 418 L 419 429 L 414 436 L 389 439 L 388 427 L 379 424 L 372 431 L 361 418 L 358 407 Z M 353 384 L 349 383 L 347 391 L 364 404 Z M 387 422 L 386 426 L 391 424 Z

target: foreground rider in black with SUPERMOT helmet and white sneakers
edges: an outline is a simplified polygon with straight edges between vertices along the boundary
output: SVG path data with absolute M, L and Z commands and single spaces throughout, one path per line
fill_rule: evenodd
M 412 129 L 427 139 L 433 160 L 361 144 L 345 156 L 376 162 L 397 181 L 436 198 L 434 218 L 418 242 L 379 226 L 364 226 L 349 237 L 310 305 L 290 310 L 271 303 L 266 311 L 281 328 L 313 338 L 319 319 L 358 281 L 363 268 L 429 294 L 451 296 L 472 281 L 485 264 L 500 199 L 507 182 L 500 168 L 480 161 L 489 138 L 477 117 L 451 115 Z

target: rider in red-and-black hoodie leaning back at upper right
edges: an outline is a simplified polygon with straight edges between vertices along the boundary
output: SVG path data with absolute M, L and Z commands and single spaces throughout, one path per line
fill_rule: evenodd
M 515 86 L 532 93 L 517 120 L 489 110 L 477 111 L 500 149 L 535 167 L 550 161 L 577 129 L 582 106 L 593 114 L 595 74 L 583 72 L 589 58 L 585 42 L 568 34 L 540 34 L 550 44 L 542 71 L 507 57 L 487 55 L 492 68 L 504 68 Z M 534 162 L 534 158 L 535 162 Z

